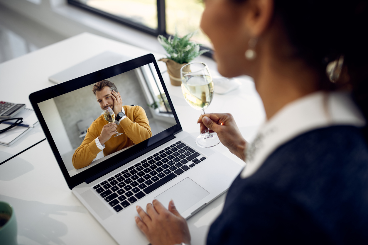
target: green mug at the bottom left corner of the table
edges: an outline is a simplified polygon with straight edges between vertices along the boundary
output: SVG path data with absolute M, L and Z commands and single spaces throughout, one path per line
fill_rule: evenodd
M 17 228 L 13 207 L 0 201 L 0 244 L 17 245 Z

